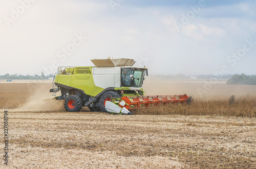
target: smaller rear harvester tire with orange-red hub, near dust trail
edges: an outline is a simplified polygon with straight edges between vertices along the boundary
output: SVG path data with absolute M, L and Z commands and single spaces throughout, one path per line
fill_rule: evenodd
M 64 105 L 65 109 L 69 112 L 79 112 L 82 108 L 82 101 L 77 95 L 70 95 Z

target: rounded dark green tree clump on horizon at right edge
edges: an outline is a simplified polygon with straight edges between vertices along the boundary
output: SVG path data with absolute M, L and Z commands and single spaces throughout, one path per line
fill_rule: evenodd
M 227 84 L 240 84 L 240 85 L 256 85 L 256 76 L 248 76 L 245 74 L 233 75 L 228 81 Z

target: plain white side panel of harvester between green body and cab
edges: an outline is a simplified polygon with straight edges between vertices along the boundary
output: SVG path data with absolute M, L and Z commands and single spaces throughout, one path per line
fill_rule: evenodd
M 95 86 L 108 88 L 115 86 L 115 75 L 93 75 Z

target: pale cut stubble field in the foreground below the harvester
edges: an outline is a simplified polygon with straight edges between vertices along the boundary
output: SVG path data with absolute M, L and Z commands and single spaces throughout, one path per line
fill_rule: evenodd
M 12 167 L 256 166 L 255 118 L 12 111 L 9 118 Z

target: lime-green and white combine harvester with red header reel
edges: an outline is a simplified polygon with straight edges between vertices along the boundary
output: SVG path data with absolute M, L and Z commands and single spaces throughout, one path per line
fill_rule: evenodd
M 91 111 L 132 114 L 129 110 L 168 103 L 185 103 L 182 95 L 145 95 L 142 88 L 146 67 L 135 67 L 133 59 L 94 59 L 95 66 L 58 67 L 53 79 L 53 96 L 65 99 L 65 108 L 79 112 L 82 106 Z

